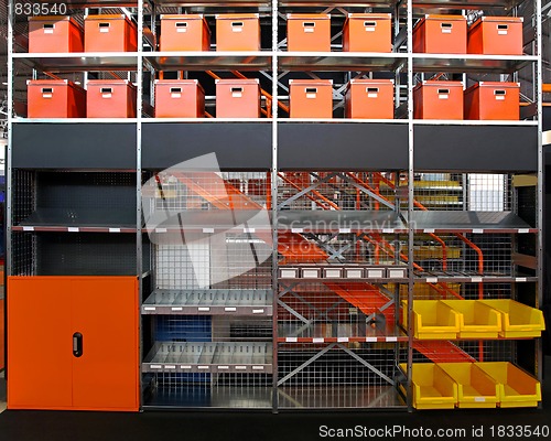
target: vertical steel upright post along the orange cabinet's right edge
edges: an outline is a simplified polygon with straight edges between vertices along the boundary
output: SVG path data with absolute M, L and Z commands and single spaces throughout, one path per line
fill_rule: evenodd
M 142 344 L 141 344 L 141 299 L 143 290 L 143 244 L 142 244 L 142 206 L 141 206 L 141 114 L 142 114 L 142 97 L 143 97 L 143 2 L 138 1 L 138 65 L 136 66 L 136 86 L 137 86 L 137 103 L 136 103 L 136 270 L 138 272 L 138 335 L 140 335 L 140 359 L 138 366 L 141 366 L 142 361 Z M 139 369 L 139 390 L 142 390 L 141 368 Z M 142 397 L 140 396 L 140 406 Z

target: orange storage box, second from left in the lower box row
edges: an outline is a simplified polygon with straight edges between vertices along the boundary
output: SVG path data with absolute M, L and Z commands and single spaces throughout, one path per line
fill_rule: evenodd
M 136 118 L 136 87 L 128 79 L 90 79 L 88 118 Z

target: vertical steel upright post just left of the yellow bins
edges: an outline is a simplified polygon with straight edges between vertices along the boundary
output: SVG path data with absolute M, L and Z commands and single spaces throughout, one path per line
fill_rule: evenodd
M 408 0 L 408 410 L 413 409 L 413 2 Z

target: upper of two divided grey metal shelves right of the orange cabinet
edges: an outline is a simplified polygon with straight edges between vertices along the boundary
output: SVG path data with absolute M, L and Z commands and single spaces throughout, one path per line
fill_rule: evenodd
M 142 304 L 142 314 L 272 315 L 269 290 L 155 290 Z

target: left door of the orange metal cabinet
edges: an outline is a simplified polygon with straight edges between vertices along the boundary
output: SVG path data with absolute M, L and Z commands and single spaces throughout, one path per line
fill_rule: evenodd
M 63 277 L 8 279 L 8 407 L 72 406 L 71 283 Z

